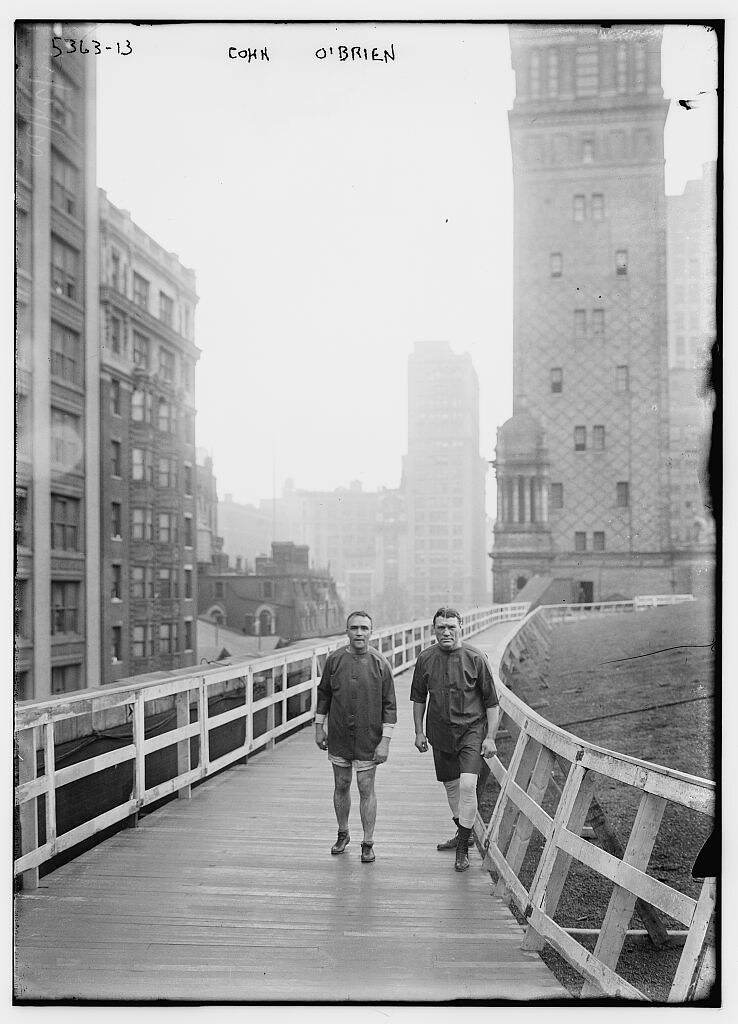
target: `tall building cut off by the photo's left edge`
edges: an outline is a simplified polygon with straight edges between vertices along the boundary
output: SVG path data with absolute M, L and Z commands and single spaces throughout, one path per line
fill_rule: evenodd
M 15 29 L 18 699 L 101 675 L 95 63 L 62 34 Z

